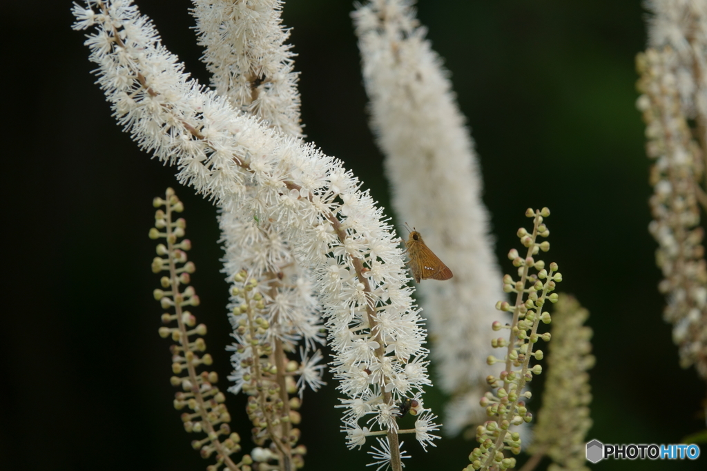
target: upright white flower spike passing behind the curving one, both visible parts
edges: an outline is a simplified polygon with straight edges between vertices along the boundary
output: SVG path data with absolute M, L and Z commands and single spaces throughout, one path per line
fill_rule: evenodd
M 226 97 L 236 109 L 256 117 L 265 126 L 291 136 L 300 135 L 299 95 L 297 75 L 292 71 L 292 54 L 284 45 L 288 32 L 280 20 L 279 1 L 252 1 L 234 3 L 224 0 L 194 0 L 192 14 L 197 20 L 199 44 L 206 47 L 202 59 L 213 74 L 211 83 L 216 92 Z M 255 188 L 245 190 L 255 194 Z M 300 396 L 305 383 L 317 389 L 323 365 L 316 365 L 322 355 L 316 352 L 309 359 L 308 350 L 324 341 L 320 335 L 320 306 L 311 281 L 311 272 L 303 268 L 292 253 L 287 235 L 267 220 L 256 220 L 243 208 L 231 208 L 219 218 L 222 240 L 226 243 L 224 271 L 228 280 L 245 271 L 245 278 L 257 281 L 256 287 L 264 299 L 264 319 L 269 328 L 264 330 L 262 342 L 274 345 L 273 335 L 284 344 L 284 351 L 300 348 Z M 234 289 L 238 290 L 238 283 Z M 244 299 L 233 294 L 231 307 L 243 305 Z M 231 363 L 235 371 L 230 376 L 238 392 L 243 387 L 243 376 L 250 376 L 244 368 L 253 351 L 238 348 L 247 345 L 238 333 L 244 313 L 230 314 L 234 326 L 234 354 Z M 239 318 L 240 317 L 240 318 Z

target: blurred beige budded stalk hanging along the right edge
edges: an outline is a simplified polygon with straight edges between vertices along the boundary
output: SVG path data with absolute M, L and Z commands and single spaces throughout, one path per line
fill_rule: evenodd
M 684 368 L 694 364 L 707 379 L 707 263 L 698 203 L 703 151 L 681 106 L 678 61 L 672 47 L 648 49 L 636 61 L 646 152 L 655 159 L 650 171 L 653 221 L 648 229 L 659 244 L 656 262 L 664 279 L 658 289 L 667 296 L 663 316 L 672 323 L 680 364 Z

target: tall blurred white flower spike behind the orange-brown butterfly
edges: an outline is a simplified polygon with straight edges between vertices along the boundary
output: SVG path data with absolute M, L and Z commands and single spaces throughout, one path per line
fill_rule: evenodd
M 442 388 L 454 395 L 445 431 L 456 434 L 483 414 L 488 387 L 493 304 L 501 270 L 493 256 L 489 215 L 469 129 L 464 126 L 442 60 L 426 40 L 408 0 L 372 0 L 353 13 L 370 126 L 385 155 L 392 203 L 401 221 L 417 225 L 454 278 L 422 282 L 421 304 L 434 338 Z

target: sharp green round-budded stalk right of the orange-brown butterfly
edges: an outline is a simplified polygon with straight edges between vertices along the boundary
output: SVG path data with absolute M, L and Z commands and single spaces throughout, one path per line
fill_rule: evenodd
M 505 348 L 503 358 L 489 356 L 488 364 L 501 363 L 504 366 L 501 374 L 488 376 L 487 383 L 496 392 L 489 392 L 481 398 L 481 407 L 486 409 L 488 420 L 477 427 L 477 441 L 479 448 L 469 455 L 472 462 L 467 470 L 507 470 L 515 467 L 515 458 L 507 457 L 504 451 L 513 454 L 520 453 L 520 434 L 513 431 L 513 426 L 532 420 L 532 414 L 525 407 L 525 399 L 530 398 L 530 391 L 524 390 L 526 383 L 532 381 L 534 375 L 542 373 L 542 366 L 530 364 L 534 357 L 543 358 L 542 350 L 534 350 L 538 340 L 550 340 L 550 333 L 539 333 L 541 323 L 551 321 L 550 314 L 543 311 L 546 302 L 557 302 L 557 294 L 551 293 L 556 283 L 562 280 L 558 273 L 556 263 L 550 263 L 546 268 L 545 262 L 534 257 L 540 251 L 547 252 L 550 244 L 547 241 L 538 242 L 538 237 L 548 237 L 550 232 L 543 220 L 550 215 L 548 208 L 525 212 L 527 217 L 532 217 L 533 228 L 528 232 L 524 228 L 518 229 L 520 243 L 527 249 L 525 257 L 513 249 L 508 253 L 508 258 L 513 261 L 513 266 L 518 268 L 518 278 L 510 275 L 503 277 L 503 290 L 515 293 L 515 304 L 499 301 L 496 309 L 513 313 L 510 325 L 494 322 L 494 331 L 508 330 L 508 337 L 493 339 L 494 348 Z M 531 272 L 532 270 L 532 272 Z

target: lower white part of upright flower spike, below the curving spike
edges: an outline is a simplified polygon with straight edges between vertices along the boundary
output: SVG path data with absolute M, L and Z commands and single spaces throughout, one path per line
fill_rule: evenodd
M 236 340 L 233 347 L 228 347 L 233 351 L 231 364 L 234 368 L 228 378 L 235 384 L 228 390 L 238 393 L 243 388 L 248 382 L 244 376 L 252 374 L 251 368 L 243 365 L 259 357 L 251 348 L 238 347 L 250 345 L 238 333 L 241 319 L 245 321 L 245 311 L 234 309 L 245 304 L 239 287 L 248 279 L 255 280 L 253 292 L 262 299 L 261 312 L 269 326 L 257 336 L 259 345 L 276 345 L 275 340 L 279 340 L 284 352 L 296 352 L 297 346 L 304 343 L 305 347 L 300 348 L 301 366 L 291 372 L 300 376 L 300 396 L 305 383 L 317 390 L 323 384 L 324 365 L 316 364 L 322 360 L 322 354 L 317 351 L 308 358 L 308 352 L 315 350 L 317 344 L 323 344 L 324 337 L 320 305 L 313 295 L 308 273 L 295 263 L 291 247 L 280 232 L 262 229 L 252 217 L 244 222 L 243 210 L 223 212 L 219 219 L 226 248 L 224 271 L 229 280 L 235 281 L 228 306 Z

